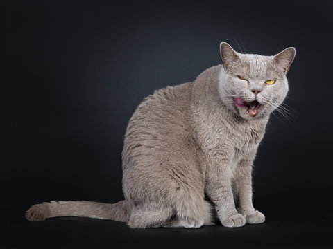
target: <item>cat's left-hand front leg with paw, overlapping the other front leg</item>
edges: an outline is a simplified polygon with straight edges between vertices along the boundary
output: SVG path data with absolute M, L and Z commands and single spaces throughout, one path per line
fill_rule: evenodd
M 246 219 L 237 212 L 231 187 L 231 170 L 228 158 L 207 167 L 205 192 L 214 203 L 223 226 L 234 228 L 245 225 Z

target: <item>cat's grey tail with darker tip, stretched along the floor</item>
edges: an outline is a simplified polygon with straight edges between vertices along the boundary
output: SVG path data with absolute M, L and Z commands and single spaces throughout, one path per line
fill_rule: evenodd
M 26 211 L 28 221 L 44 221 L 58 216 L 80 216 L 128 222 L 130 208 L 126 200 L 114 204 L 92 201 L 51 201 L 33 205 Z

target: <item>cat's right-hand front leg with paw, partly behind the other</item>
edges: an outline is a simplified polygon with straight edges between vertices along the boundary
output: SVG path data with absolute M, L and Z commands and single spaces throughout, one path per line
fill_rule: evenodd
M 252 165 L 257 149 L 250 153 L 237 165 L 233 177 L 234 194 L 239 198 L 239 212 L 246 218 L 246 223 L 257 224 L 265 221 L 262 212 L 255 210 L 252 201 Z

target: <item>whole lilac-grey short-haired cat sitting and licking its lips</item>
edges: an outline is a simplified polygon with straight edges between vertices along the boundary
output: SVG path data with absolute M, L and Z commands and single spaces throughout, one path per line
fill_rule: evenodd
M 251 170 L 270 113 L 287 95 L 296 49 L 242 54 L 222 42 L 220 54 L 222 64 L 155 91 L 133 113 L 121 154 L 125 200 L 51 201 L 33 205 L 26 219 L 87 216 L 130 228 L 264 222 L 253 207 Z

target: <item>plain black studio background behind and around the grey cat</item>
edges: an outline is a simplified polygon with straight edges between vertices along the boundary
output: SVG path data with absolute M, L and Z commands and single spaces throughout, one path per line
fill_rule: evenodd
M 332 248 L 330 1 L 2 1 L 1 248 Z M 51 200 L 114 203 L 123 134 L 137 104 L 221 64 L 219 43 L 274 55 L 296 47 L 289 119 L 271 116 L 244 228 L 131 230 L 62 217 Z M 238 45 L 239 44 L 239 45 Z

